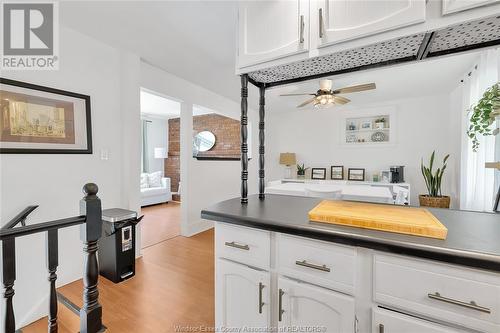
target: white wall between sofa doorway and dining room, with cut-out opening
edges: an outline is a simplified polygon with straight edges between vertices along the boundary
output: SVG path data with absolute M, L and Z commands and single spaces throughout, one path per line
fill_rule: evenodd
M 210 227 L 200 218 L 203 208 L 218 201 L 239 196 L 239 161 L 198 161 L 192 157 L 192 108 L 200 105 L 215 112 L 239 119 L 240 104 L 203 87 L 171 75 L 149 64 L 141 64 L 141 87 L 181 101 L 181 182 L 182 234 L 192 235 Z M 235 89 L 240 89 L 235 87 Z M 252 93 L 252 92 L 251 92 Z M 253 94 L 251 98 L 258 98 Z M 253 151 L 257 145 L 257 113 L 249 110 Z M 257 158 L 249 163 L 249 193 L 257 190 Z

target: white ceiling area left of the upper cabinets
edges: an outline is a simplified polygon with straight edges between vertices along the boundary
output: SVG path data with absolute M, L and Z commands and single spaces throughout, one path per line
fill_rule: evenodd
M 61 1 L 60 21 L 237 100 L 237 1 Z

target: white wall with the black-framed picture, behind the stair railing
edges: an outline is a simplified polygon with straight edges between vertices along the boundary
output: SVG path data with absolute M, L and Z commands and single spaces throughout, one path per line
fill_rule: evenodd
M 135 155 L 139 149 L 127 141 L 127 137 L 139 135 L 140 129 L 139 115 L 134 129 L 130 122 L 134 115 L 129 112 L 130 108 L 139 110 L 139 58 L 64 26 L 60 46 L 58 71 L 5 71 L 2 77 L 90 95 L 94 154 L 0 155 L 1 223 L 33 204 L 40 207 L 28 219 L 29 224 L 76 216 L 87 182 L 99 185 L 103 208 L 138 206 L 138 195 L 127 191 L 133 177 L 124 168 L 124 159 L 129 160 L 124 151 Z M 108 151 L 108 160 L 100 159 L 102 149 Z M 130 170 L 136 169 L 133 162 L 129 165 Z M 139 186 L 138 171 L 136 181 Z M 45 235 L 19 238 L 16 245 L 14 308 L 20 327 L 46 315 L 49 285 Z M 59 249 L 57 285 L 81 278 L 83 245 L 78 227 L 59 232 Z

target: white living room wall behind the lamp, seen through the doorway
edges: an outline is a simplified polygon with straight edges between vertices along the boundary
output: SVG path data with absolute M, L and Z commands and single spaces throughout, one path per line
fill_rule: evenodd
M 165 172 L 164 159 L 155 158 L 155 148 L 165 148 L 168 152 L 168 120 L 159 119 L 151 116 L 143 115 L 144 120 L 148 123 L 148 161 L 149 172 L 161 171 Z

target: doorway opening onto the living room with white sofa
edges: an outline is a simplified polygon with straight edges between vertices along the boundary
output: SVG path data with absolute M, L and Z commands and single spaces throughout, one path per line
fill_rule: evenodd
M 181 104 L 141 88 L 141 247 L 181 234 Z

